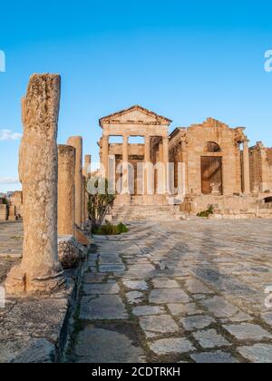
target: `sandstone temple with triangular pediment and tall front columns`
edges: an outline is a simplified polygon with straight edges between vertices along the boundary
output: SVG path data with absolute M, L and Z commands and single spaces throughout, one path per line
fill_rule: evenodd
M 116 184 L 122 202 L 127 200 L 130 203 L 131 197 L 136 203 L 152 204 L 158 200 L 160 203 L 165 202 L 170 122 L 140 106 L 133 106 L 100 120 L 102 174 Z M 121 137 L 122 142 L 111 143 L 112 137 Z M 131 138 L 141 138 L 142 142 L 133 143 Z M 158 171 L 160 165 L 163 172 L 160 194 L 156 187 L 156 171 L 152 170 L 150 163 L 153 166 L 158 164 Z

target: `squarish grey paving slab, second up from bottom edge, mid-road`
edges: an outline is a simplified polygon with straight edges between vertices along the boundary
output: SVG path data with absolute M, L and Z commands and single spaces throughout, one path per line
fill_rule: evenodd
M 141 317 L 140 325 L 145 333 L 168 334 L 179 332 L 180 329 L 175 320 L 169 315 Z

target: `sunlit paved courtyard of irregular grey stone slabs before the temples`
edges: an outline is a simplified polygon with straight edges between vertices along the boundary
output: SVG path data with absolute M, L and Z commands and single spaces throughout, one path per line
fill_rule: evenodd
M 73 362 L 272 362 L 272 220 L 135 223 L 96 238 Z

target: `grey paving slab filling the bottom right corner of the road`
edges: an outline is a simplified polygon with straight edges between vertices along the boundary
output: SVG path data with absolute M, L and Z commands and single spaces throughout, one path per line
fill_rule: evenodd
M 272 345 L 256 344 L 252 347 L 239 347 L 238 352 L 242 357 L 256 364 L 272 363 Z

